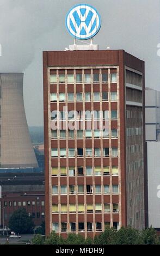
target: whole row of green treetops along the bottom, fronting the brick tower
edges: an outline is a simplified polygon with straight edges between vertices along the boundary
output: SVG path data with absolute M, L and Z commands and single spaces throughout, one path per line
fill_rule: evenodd
M 64 239 L 57 235 L 55 231 L 48 236 L 40 234 L 32 239 L 34 245 L 160 245 L 160 236 L 152 227 L 143 230 L 137 230 L 132 227 L 119 230 L 115 228 L 106 228 L 100 235 L 94 239 L 87 237 L 85 239 L 81 234 L 68 234 Z

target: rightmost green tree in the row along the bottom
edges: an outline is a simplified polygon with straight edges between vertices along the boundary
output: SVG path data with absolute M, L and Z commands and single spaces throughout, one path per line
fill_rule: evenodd
M 140 243 L 143 245 L 156 245 L 158 243 L 158 237 L 156 230 L 152 228 L 146 228 L 141 231 L 140 234 Z

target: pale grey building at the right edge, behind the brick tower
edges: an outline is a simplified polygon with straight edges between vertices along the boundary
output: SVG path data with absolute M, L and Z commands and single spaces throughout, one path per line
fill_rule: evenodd
M 160 92 L 145 88 L 149 227 L 160 230 Z

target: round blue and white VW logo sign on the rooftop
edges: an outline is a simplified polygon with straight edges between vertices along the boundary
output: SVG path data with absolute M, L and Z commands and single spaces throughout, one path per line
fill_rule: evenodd
M 101 27 L 101 16 L 89 4 L 78 4 L 72 7 L 66 15 L 67 31 L 76 39 L 90 39 Z

